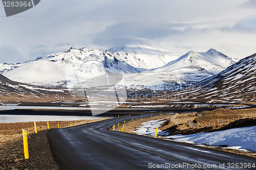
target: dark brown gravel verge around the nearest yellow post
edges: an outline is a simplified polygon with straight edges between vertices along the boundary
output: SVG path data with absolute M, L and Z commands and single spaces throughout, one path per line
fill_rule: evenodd
M 22 136 L 0 145 L 0 169 L 60 169 L 47 138 L 48 130 L 28 135 L 29 159 L 24 158 Z

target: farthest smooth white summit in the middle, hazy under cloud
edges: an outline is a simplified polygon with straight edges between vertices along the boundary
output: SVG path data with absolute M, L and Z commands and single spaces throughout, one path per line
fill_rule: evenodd
M 109 51 L 134 67 L 146 69 L 164 66 L 180 57 L 179 54 L 138 41 L 110 48 Z

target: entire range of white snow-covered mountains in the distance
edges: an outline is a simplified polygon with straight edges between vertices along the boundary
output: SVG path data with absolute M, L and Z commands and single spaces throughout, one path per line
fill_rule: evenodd
M 12 81 L 52 88 L 66 87 L 67 82 L 77 77 L 87 80 L 107 72 L 119 72 L 123 74 L 119 85 L 128 89 L 179 90 L 236 63 L 214 49 L 206 53 L 190 51 L 179 56 L 141 43 L 110 50 L 71 47 L 33 61 L 0 64 L 0 71 Z

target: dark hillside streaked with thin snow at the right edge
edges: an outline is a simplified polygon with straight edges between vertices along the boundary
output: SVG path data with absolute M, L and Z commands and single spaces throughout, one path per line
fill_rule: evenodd
M 190 99 L 255 100 L 256 54 L 246 57 L 195 86 L 174 94 Z

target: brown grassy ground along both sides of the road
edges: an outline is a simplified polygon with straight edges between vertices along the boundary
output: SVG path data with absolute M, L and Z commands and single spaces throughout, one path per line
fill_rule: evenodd
M 252 117 L 250 117 L 252 113 Z M 115 125 L 115 131 L 122 131 L 124 125 L 124 132 L 131 132 L 135 130 L 142 122 L 150 120 L 166 119 L 159 127 L 161 130 L 168 130 L 170 134 L 193 134 L 199 132 L 209 132 L 225 130 L 234 127 L 245 127 L 256 125 L 256 109 L 243 109 L 243 110 L 229 110 L 229 109 L 216 109 L 213 111 L 205 111 L 200 113 L 187 113 L 176 115 L 162 114 L 161 116 L 153 116 L 146 118 L 138 118 L 126 121 L 125 124 L 120 122 L 119 126 Z M 246 117 L 245 117 L 246 116 Z M 234 122 L 232 120 L 234 117 Z M 238 117 L 240 118 L 238 120 Z M 191 128 L 187 120 L 199 123 L 200 127 Z M 229 123 L 227 124 L 227 118 Z M 224 124 L 222 125 L 222 119 Z M 174 122 L 176 120 L 177 123 Z M 219 125 L 218 125 L 219 120 Z M 95 120 L 99 121 L 99 120 Z M 82 120 L 82 124 L 91 123 L 93 120 Z M 201 127 L 202 122 L 202 127 Z M 206 126 L 203 122 L 207 122 Z M 210 122 L 210 124 L 208 124 Z M 215 122 L 215 123 L 214 123 Z M 49 122 L 50 128 L 60 128 L 80 125 L 81 120 L 77 121 L 56 121 Z M 47 138 L 47 122 L 36 122 L 38 133 L 35 134 L 34 123 L 11 123 L 0 124 L 0 169 L 59 169 L 59 165 L 55 161 L 50 144 Z M 28 145 L 29 145 L 29 159 L 24 159 L 22 129 L 28 131 Z M 111 129 L 113 130 L 113 129 Z M 211 146 L 207 146 L 212 148 Z M 223 150 L 226 152 L 247 155 L 255 152 L 241 152 L 238 150 L 230 150 L 223 148 L 213 148 Z M 255 155 L 249 155 L 256 157 Z

